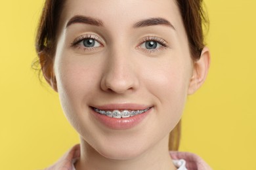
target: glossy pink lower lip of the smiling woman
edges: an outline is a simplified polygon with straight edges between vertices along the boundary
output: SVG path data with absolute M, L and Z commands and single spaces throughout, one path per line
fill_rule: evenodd
M 98 112 L 95 112 L 95 110 L 93 109 L 91 110 L 96 120 L 98 120 L 104 126 L 109 127 L 110 129 L 125 130 L 131 129 L 132 127 L 135 127 L 138 124 L 140 124 L 140 122 L 142 122 L 142 120 L 144 120 L 146 116 L 149 114 L 151 109 L 152 108 L 148 109 L 146 112 L 143 112 L 142 114 L 137 114 L 129 118 L 111 118 L 106 115 L 99 114 Z

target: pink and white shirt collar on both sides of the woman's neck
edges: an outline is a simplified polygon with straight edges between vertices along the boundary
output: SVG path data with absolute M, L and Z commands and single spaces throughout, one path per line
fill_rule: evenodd
M 189 152 L 170 152 L 170 156 L 177 170 L 211 170 L 199 156 Z M 79 144 L 71 148 L 60 160 L 45 170 L 75 170 L 74 162 L 80 157 Z

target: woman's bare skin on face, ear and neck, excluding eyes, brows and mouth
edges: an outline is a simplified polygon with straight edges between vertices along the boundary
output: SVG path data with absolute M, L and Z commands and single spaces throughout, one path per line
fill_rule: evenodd
M 103 26 L 72 24 L 75 15 L 89 16 Z M 169 25 L 133 25 L 148 18 Z M 96 37 L 93 48 L 79 37 Z M 158 37 L 157 50 L 145 39 Z M 155 40 L 155 39 L 154 39 Z M 156 41 L 154 41 L 156 42 Z M 187 95 L 203 84 L 209 50 L 192 61 L 181 14 L 175 1 L 68 0 L 58 27 L 54 73 L 66 117 L 81 138 L 77 169 L 176 169 L 168 151 L 169 132 L 182 116 Z M 50 77 L 45 77 L 50 78 Z M 91 116 L 90 106 L 136 103 L 152 106 L 138 126 L 113 130 Z

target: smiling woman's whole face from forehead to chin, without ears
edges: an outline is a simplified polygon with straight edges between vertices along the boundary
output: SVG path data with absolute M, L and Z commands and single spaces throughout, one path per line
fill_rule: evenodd
M 167 144 L 192 63 L 175 1 L 66 1 L 54 59 L 60 101 L 81 138 L 107 158 Z

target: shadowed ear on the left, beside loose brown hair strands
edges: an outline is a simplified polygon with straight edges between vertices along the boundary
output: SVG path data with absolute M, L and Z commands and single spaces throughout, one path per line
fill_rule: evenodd
M 39 59 L 45 80 L 55 92 L 58 92 L 56 77 L 53 70 L 53 58 L 50 58 L 47 54 L 42 52 L 39 54 Z

